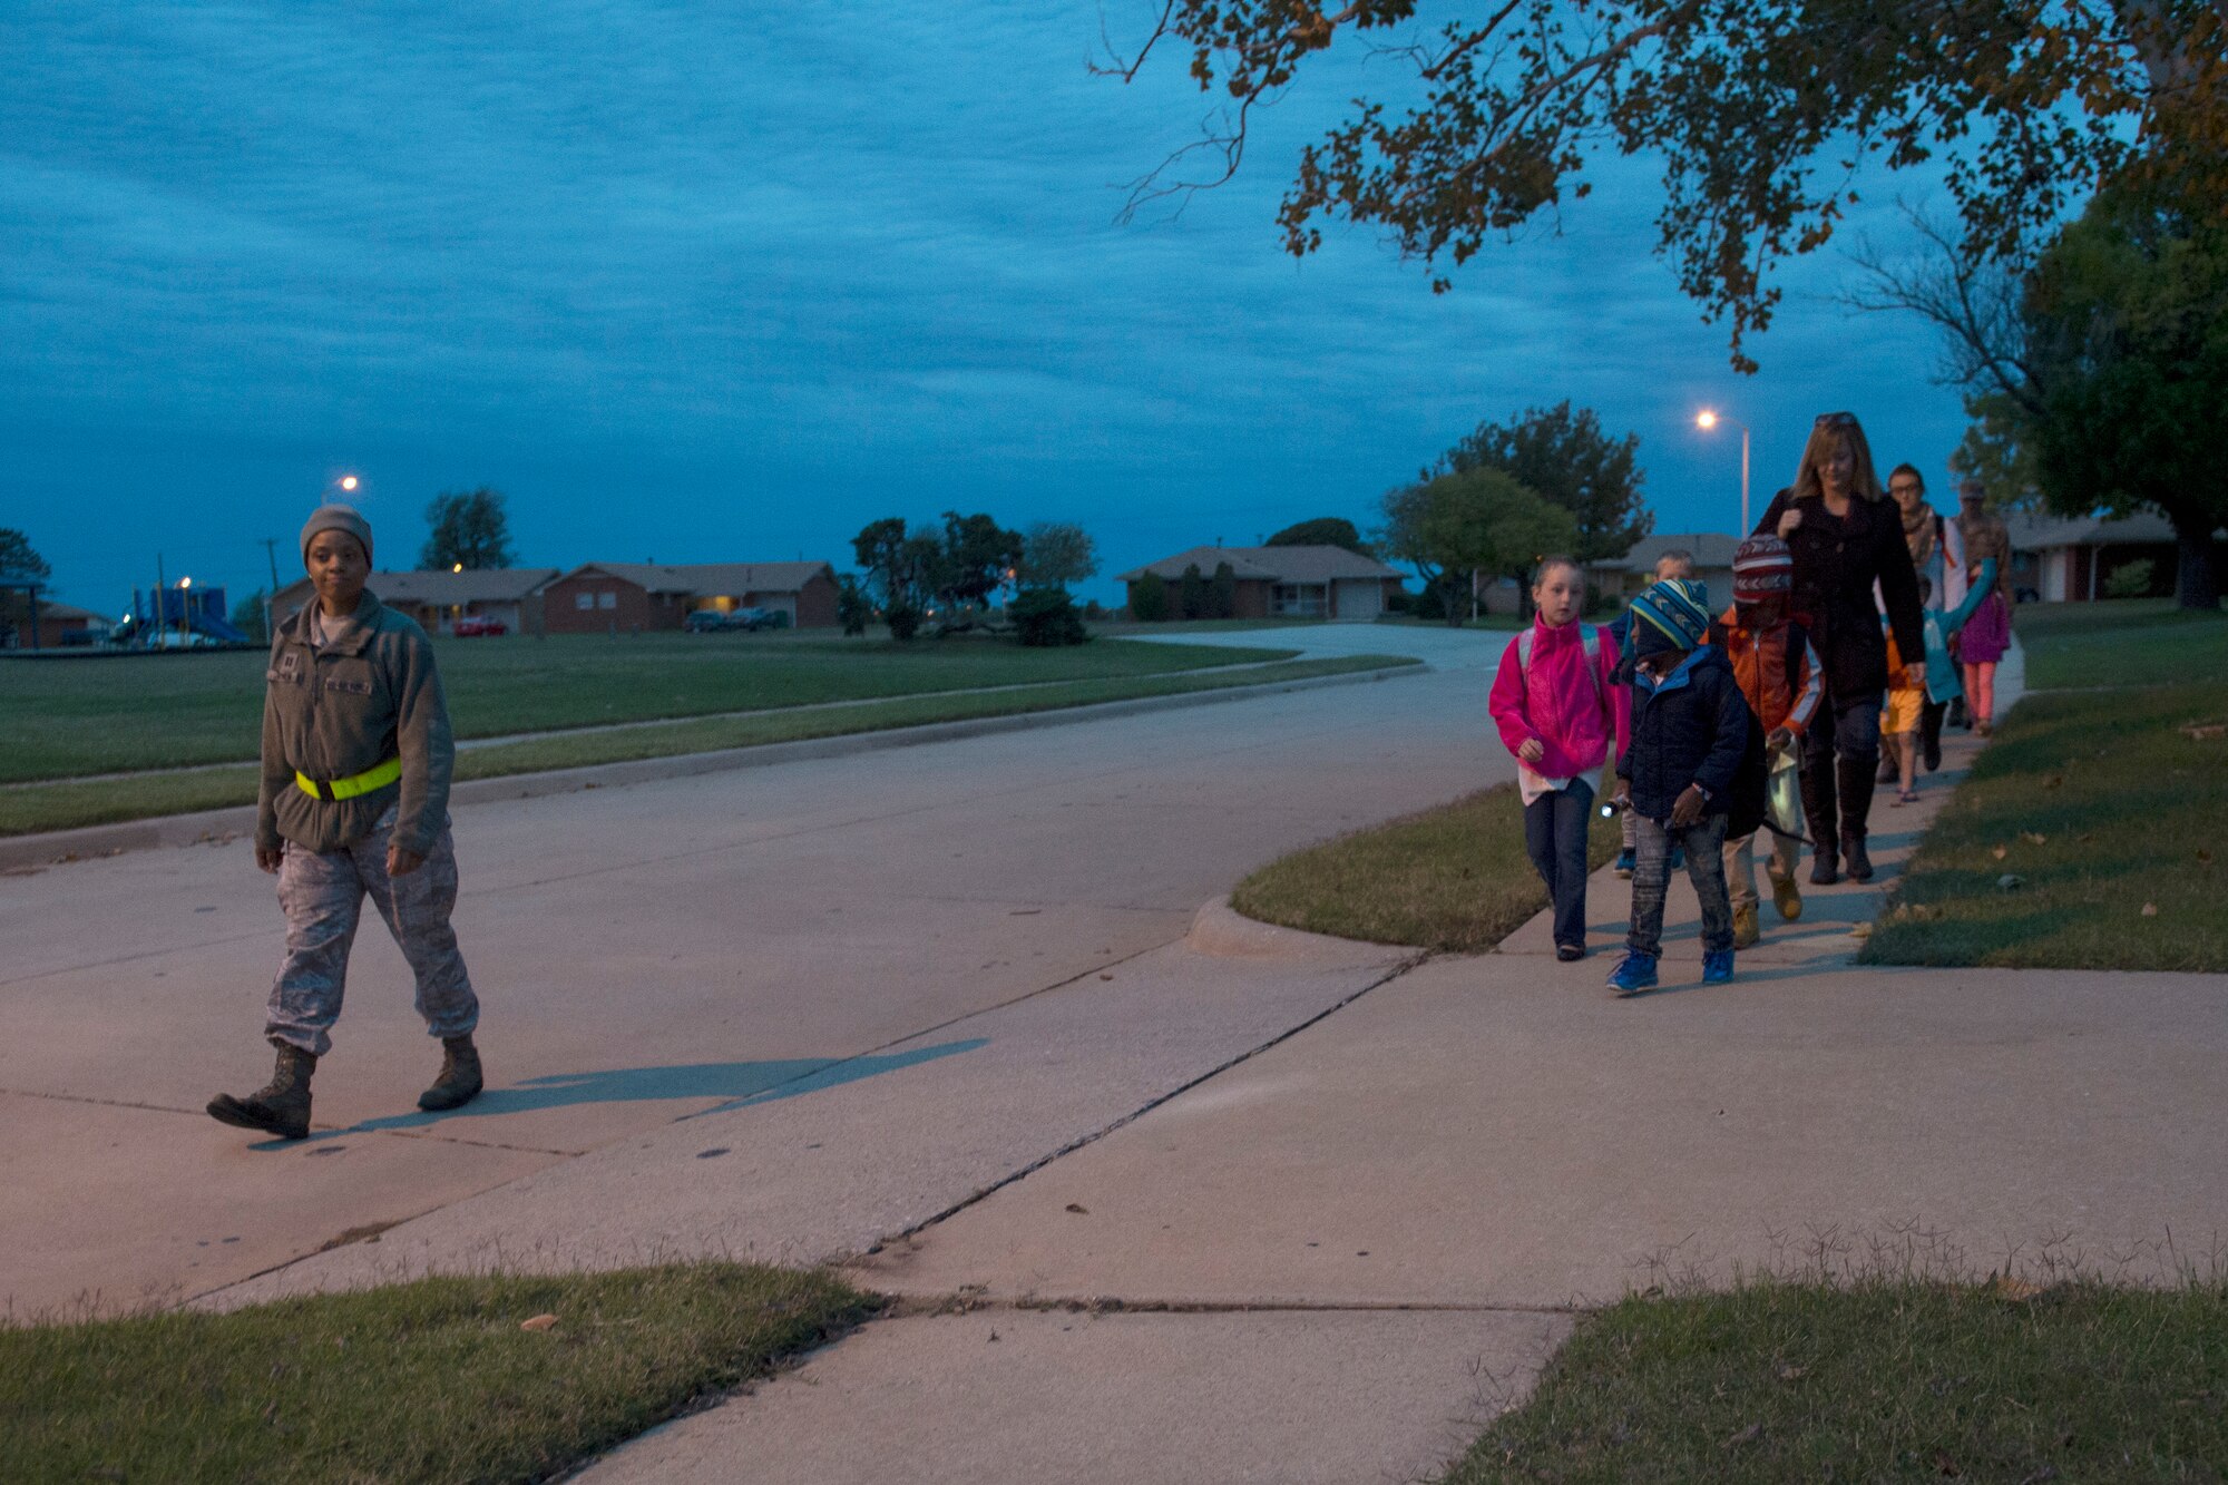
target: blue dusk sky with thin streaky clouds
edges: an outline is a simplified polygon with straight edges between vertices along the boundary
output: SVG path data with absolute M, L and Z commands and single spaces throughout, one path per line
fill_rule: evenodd
M 1107 0 L 1107 31 L 1156 7 Z M 849 566 L 869 520 L 1074 520 L 1112 575 L 1377 497 L 1564 397 L 1638 433 L 1660 531 L 1729 531 L 1851 408 L 1941 491 L 1936 346 L 1782 276 L 1738 377 L 1653 256 L 1644 161 L 1430 294 L 1370 230 L 1283 254 L 1299 147 L 1397 65 L 1306 71 L 1237 183 L 1121 225 L 1194 136 L 1183 58 L 1087 69 L 1096 2 L 136 4 L 0 16 L 0 526 L 60 598 L 299 575 L 341 473 L 410 566 L 492 484 L 524 564 Z M 1858 225 L 1923 183 L 1867 181 Z M 1878 205 L 1874 205 L 1878 203 Z

